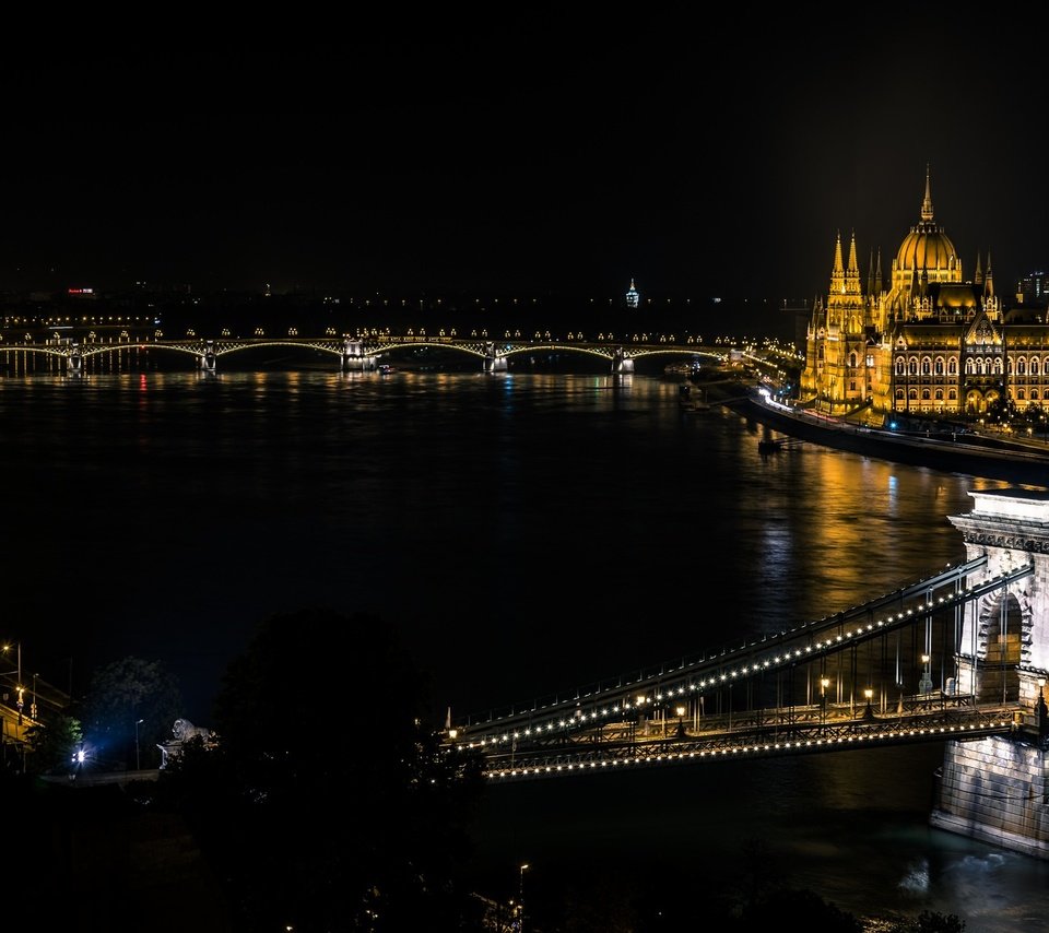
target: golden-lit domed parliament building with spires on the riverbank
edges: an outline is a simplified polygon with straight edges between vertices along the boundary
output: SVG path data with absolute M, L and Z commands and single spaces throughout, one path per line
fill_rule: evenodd
M 887 284 L 887 287 L 886 287 Z M 834 414 L 980 416 L 998 398 L 1049 408 L 1049 324 L 1044 308 L 1006 311 L 991 256 L 966 279 L 935 222 L 929 173 L 921 220 L 904 237 L 884 283 L 881 252 L 864 286 L 856 235 L 845 261 L 838 234 L 826 298 L 813 306 L 801 400 Z

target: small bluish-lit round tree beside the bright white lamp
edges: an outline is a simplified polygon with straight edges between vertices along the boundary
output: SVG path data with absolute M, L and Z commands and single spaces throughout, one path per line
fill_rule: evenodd
M 134 657 L 97 669 L 79 705 L 85 744 L 101 767 L 110 768 L 157 763 L 156 743 L 170 737 L 184 710 L 175 675 L 160 661 Z

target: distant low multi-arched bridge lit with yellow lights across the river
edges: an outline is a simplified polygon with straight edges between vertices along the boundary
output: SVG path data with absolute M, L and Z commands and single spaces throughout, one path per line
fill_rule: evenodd
M 647 336 L 647 335 L 646 335 Z M 465 356 L 476 357 L 484 371 L 498 373 L 507 369 L 508 361 L 522 354 L 573 353 L 599 357 L 609 363 L 612 373 L 633 373 L 634 363 L 644 357 L 687 356 L 706 357 L 723 363 L 728 361 L 728 345 L 707 346 L 687 338 L 651 338 L 650 342 L 623 343 L 622 341 L 584 340 L 487 340 L 471 338 L 463 340 L 455 336 L 398 336 L 382 334 L 378 336 L 323 336 L 323 338 L 217 338 L 164 340 L 145 338 L 131 340 L 121 336 L 114 342 L 80 342 L 73 339 L 45 340 L 23 343 L 4 342 L 0 350 L 5 353 L 37 355 L 61 361 L 66 371 L 78 374 L 83 370 L 84 362 L 96 356 L 115 353 L 170 353 L 193 357 L 197 366 L 204 371 L 215 371 L 219 361 L 234 354 L 261 347 L 300 349 L 330 354 L 334 367 L 341 371 L 367 371 L 377 369 L 380 357 L 398 351 L 440 349 Z

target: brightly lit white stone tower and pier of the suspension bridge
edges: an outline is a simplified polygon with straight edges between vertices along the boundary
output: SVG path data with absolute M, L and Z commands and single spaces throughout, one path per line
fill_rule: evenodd
M 965 602 L 958 692 L 977 702 L 1017 702 L 1011 736 L 952 741 L 944 749 L 930 823 L 1049 860 L 1049 493 L 970 492 L 976 507 L 948 516 L 968 557 L 987 564 L 978 586 L 1024 565 L 1034 572 Z

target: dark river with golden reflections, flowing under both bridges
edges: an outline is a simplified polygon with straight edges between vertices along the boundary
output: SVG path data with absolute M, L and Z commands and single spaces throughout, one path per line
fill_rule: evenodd
M 0 636 L 74 692 L 125 654 L 208 725 L 262 617 L 396 626 L 456 718 L 826 615 L 955 563 L 1002 483 L 683 414 L 659 374 L 130 373 L 0 380 Z M 349 729 L 382 713 L 355 697 Z M 308 672 L 290 672 L 309 689 Z M 333 711 L 334 712 L 334 711 Z M 479 890 L 672 899 L 767 877 L 841 908 L 1049 916 L 1049 865 L 929 828 L 938 745 L 492 788 Z M 761 859 L 755 862 L 755 852 Z M 519 866 L 529 864 L 523 875 Z

